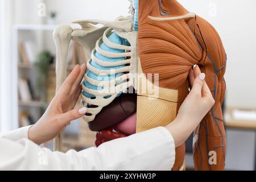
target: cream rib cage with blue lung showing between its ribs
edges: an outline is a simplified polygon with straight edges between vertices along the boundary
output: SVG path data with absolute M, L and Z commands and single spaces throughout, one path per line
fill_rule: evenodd
M 108 28 L 97 40 L 82 84 L 82 104 L 88 106 L 85 121 L 93 121 L 102 107 L 133 86 L 134 79 L 130 73 L 137 72 L 136 59 L 136 32 L 118 32 Z

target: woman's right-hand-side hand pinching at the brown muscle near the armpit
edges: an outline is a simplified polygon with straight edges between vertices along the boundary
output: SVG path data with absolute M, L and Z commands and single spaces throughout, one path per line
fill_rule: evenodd
M 191 91 L 180 106 L 176 119 L 166 126 L 176 147 L 187 140 L 215 103 L 205 82 L 205 74 L 198 66 L 191 69 L 188 78 Z

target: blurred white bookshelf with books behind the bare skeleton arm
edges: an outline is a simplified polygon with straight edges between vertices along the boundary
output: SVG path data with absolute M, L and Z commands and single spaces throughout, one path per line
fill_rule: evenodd
M 56 51 L 52 33 L 56 26 L 21 24 L 14 27 L 13 45 L 14 63 L 17 65 L 18 77 L 15 88 L 18 89 L 18 127 L 34 124 L 42 117 L 49 102 L 55 96 L 56 90 Z M 47 75 L 44 75 L 44 92 L 37 86 L 39 76 L 36 60 L 40 52 L 48 51 L 54 57 L 48 65 Z M 76 42 L 71 42 L 67 57 L 67 75 L 76 64 L 81 65 L 89 59 L 86 50 Z M 80 104 L 80 101 L 78 102 Z M 75 121 L 76 122 L 76 121 Z M 71 148 L 81 150 L 94 146 L 96 133 L 88 128 L 88 124 L 80 119 L 77 133 L 65 133 L 63 138 L 63 151 Z

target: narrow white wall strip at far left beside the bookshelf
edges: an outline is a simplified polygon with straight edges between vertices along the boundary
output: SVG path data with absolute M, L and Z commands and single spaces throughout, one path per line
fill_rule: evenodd
M 11 1 L 0 0 L 0 132 L 12 129 L 11 122 L 14 118 L 11 113 L 11 24 L 13 17 L 11 9 L 13 4 Z M 6 61 L 9 60 L 9 61 Z

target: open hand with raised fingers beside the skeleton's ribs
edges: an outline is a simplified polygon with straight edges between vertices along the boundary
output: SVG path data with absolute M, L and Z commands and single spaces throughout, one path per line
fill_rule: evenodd
M 42 144 L 56 137 L 70 121 L 82 117 L 86 107 L 74 109 L 81 94 L 81 80 L 86 65 L 79 65 L 66 78 L 59 92 L 49 104 L 42 118 L 30 127 L 28 138 L 36 144 Z

